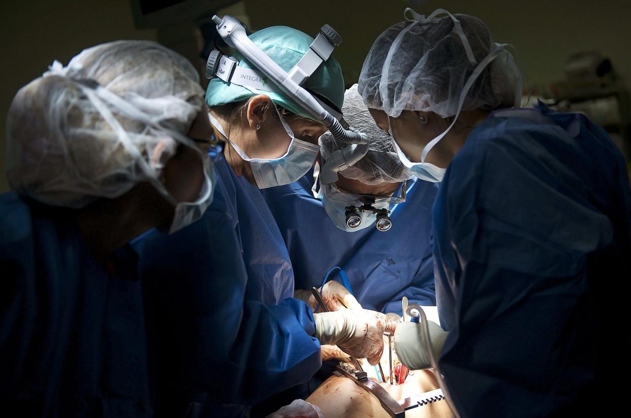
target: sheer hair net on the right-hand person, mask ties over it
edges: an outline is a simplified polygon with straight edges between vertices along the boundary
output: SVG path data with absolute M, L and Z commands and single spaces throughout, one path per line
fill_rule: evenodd
M 359 92 L 369 108 L 391 117 L 403 110 L 434 112 L 443 118 L 456 115 L 469 76 L 500 45 L 473 16 L 452 16 L 442 9 L 427 18 L 409 8 L 408 12 L 413 15 L 410 21 L 391 26 L 372 44 Z M 475 79 L 462 110 L 512 107 L 520 80 L 512 55 L 502 50 Z

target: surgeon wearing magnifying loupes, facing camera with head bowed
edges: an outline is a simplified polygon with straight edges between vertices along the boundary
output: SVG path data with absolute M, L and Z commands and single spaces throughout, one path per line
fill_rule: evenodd
M 377 127 L 363 104 L 357 84 L 346 90 L 342 110 L 349 125 L 369 136 L 369 150 L 362 160 L 339 171 L 339 180 L 332 185 L 321 185 L 310 171 L 298 182 L 263 192 L 292 260 L 296 295 L 315 308 L 309 289 L 321 287 L 327 272 L 337 266 L 345 270 L 364 308 L 401 315 L 403 296 L 410 303 L 435 305 L 431 245 L 435 183 L 412 178 L 391 137 Z M 322 161 L 316 171 L 340 148 L 330 132 L 319 143 Z M 348 226 L 346 207 L 362 206 L 359 199 L 364 197 L 375 197 L 375 208 L 391 212 L 389 230 L 377 229 L 374 213 L 360 213 L 362 223 Z M 331 279 L 339 280 L 336 270 Z M 326 288 L 330 286 L 338 288 L 336 299 L 348 298 L 348 291 L 337 282 L 331 280 Z

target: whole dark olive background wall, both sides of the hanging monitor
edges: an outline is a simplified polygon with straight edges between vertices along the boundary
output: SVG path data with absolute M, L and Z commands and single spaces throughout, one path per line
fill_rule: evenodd
M 315 35 L 329 23 L 344 41 L 334 52 L 346 83 L 357 81 L 377 35 L 403 19 L 445 8 L 480 17 L 498 42 L 519 51 L 526 83 L 537 87 L 563 78 L 572 52 L 596 49 L 611 58 L 631 84 L 631 0 L 245 0 L 252 28 L 290 25 Z M 129 0 L 0 0 L 0 193 L 5 171 L 6 112 L 15 92 L 54 59 L 67 63 L 81 49 L 115 39 L 157 40 L 157 30 L 134 28 Z M 191 39 L 191 43 L 194 42 Z M 181 42 L 180 42 L 181 43 Z M 194 49 L 196 45 L 190 46 Z

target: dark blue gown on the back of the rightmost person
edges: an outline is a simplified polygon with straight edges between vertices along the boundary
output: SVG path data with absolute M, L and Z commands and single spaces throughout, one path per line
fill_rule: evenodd
M 622 154 L 583 115 L 511 112 L 473 129 L 433 209 L 440 371 L 463 417 L 612 416 L 631 352 Z

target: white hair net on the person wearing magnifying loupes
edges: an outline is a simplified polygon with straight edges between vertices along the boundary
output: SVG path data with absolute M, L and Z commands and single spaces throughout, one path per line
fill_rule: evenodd
M 349 125 L 367 134 L 369 149 L 365 156 L 354 165 L 339 173 L 346 178 L 353 178 L 367 185 L 379 185 L 381 183 L 397 183 L 412 178 L 412 175 L 401 164 L 399 156 L 392 146 L 392 137 L 382 131 L 366 105 L 362 96 L 357 91 L 357 84 L 344 93 L 344 105 L 342 107 L 344 120 Z M 345 148 L 348 144 L 334 141 L 331 132 L 327 131 L 319 139 L 322 158 L 326 160 L 339 147 Z

